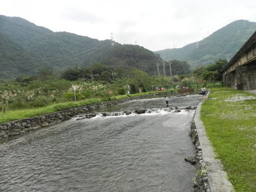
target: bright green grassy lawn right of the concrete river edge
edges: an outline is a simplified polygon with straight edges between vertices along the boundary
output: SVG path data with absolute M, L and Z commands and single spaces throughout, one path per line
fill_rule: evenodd
M 237 192 L 256 191 L 255 98 L 244 91 L 212 88 L 201 108 L 207 135 Z

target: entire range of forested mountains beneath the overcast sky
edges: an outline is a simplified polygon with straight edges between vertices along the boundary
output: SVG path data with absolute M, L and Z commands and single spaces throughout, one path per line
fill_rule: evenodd
M 34 75 L 41 68 L 59 73 L 67 68 L 89 67 L 95 62 L 135 67 L 154 74 L 156 63 L 162 62 L 157 54 L 166 61 L 187 61 L 191 68 L 207 66 L 220 58 L 231 58 L 255 30 L 256 23 L 237 20 L 199 42 L 152 52 L 117 42 L 111 47 L 111 40 L 53 32 L 20 17 L 0 15 L 0 80 Z

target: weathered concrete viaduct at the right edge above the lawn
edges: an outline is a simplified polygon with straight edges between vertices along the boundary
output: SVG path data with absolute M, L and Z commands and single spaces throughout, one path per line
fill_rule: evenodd
M 222 70 L 230 88 L 256 90 L 256 31 Z

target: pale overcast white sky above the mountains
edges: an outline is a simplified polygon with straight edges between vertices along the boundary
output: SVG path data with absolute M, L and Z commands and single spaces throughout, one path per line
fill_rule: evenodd
M 256 22 L 254 0 L 1 0 L 0 14 L 151 51 L 181 48 L 229 23 Z

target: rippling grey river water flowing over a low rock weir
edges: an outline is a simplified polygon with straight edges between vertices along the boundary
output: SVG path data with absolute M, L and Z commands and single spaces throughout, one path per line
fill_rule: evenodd
M 169 97 L 169 108 L 196 106 L 199 95 Z M 166 111 L 164 98 L 99 110 L 152 113 L 57 125 L 0 141 L 0 191 L 193 191 L 188 136 L 194 110 Z

